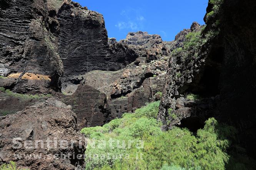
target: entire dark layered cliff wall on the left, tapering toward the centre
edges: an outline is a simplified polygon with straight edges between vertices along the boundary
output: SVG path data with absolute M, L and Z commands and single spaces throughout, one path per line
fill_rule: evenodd
M 0 75 L 30 73 L 51 79 L 0 79 L 5 88 L 20 93 L 60 91 L 80 74 L 119 70 L 138 57 L 123 44 L 109 46 L 103 16 L 71 0 L 1 2 Z

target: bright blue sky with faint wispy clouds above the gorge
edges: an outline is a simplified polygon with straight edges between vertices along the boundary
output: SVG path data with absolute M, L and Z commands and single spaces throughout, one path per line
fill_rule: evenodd
M 203 25 L 208 0 L 73 0 L 103 14 L 108 37 L 125 39 L 128 32 L 147 31 L 172 41 L 193 21 Z

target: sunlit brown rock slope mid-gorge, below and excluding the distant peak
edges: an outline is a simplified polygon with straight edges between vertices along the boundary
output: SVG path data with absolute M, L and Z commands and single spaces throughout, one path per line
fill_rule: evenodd
M 113 119 L 145 103 L 158 100 L 155 95 L 163 92 L 167 59 L 148 63 L 145 57 L 139 57 L 125 69 L 113 72 L 92 71 L 78 79 L 82 84 L 106 94 L 111 108 L 110 119 Z

